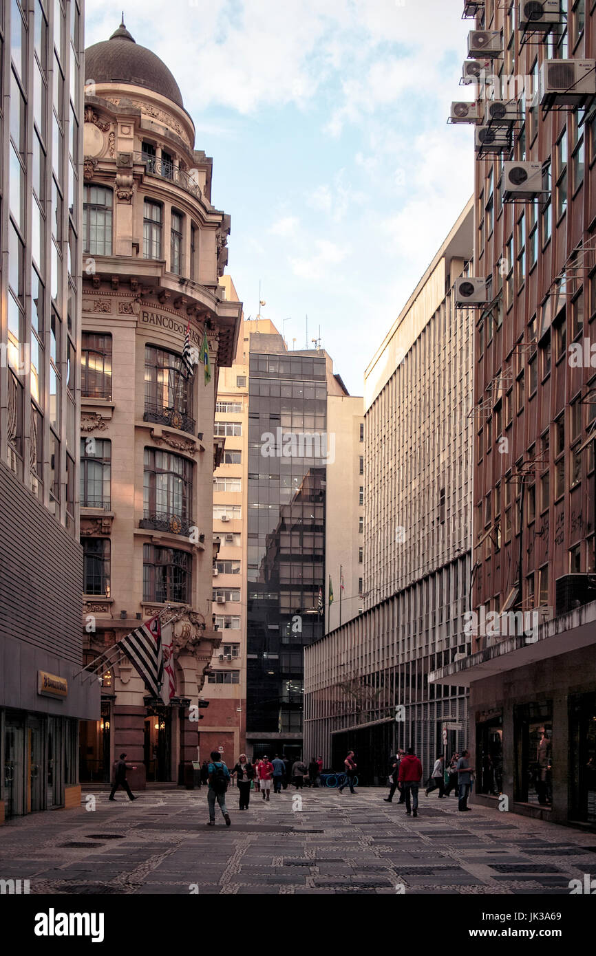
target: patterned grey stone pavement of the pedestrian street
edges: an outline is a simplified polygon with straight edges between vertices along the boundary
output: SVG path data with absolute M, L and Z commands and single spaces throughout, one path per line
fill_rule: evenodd
M 596 878 L 596 835 L 479 807 L 462 816 L 453 797 L 424 792 L 413 818 L 381 789 L 292 789 L 268 804 L 253 793 L 243 813 L 232 789 L 231 827 L 218 808 L 207 826 L 205 788 L 119 793 L 112 806 L 95 795 L 93 812 L 0 827 L 0 879 L 30 880 L 32 894 L 568 895 L 569 880 Z

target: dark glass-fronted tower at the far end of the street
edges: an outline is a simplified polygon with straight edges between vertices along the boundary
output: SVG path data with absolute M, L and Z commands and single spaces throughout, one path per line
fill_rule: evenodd
M 254 756 L 295 758 L 304 648 L 324 627 L 327 399 L 347 393 L 323 350 L 287 352 L 270 324 L 258 328 L 249 335 L 247 745 Z

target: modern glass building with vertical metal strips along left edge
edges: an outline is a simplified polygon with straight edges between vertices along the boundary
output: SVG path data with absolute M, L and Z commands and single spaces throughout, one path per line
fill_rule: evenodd
M 0 822 L 77 806 L 82 10 L 5 5 L 0 309 Z

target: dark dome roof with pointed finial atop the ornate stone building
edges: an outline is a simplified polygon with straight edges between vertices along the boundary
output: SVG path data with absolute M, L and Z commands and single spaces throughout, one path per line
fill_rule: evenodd
M 178 83 L 159 56 L 140 46 L 122 21 L 109 40 L 85 50 L 85 78 L 96 83 L 133 83 L 184 108 Z

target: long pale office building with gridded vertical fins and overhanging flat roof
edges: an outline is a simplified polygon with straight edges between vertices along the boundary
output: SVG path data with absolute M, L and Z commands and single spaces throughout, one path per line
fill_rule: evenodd
M 449 750 L 466 740 L 464 689 L 428 678 L 470 650 L 472 319 L 453 286 L 473 217 L 470 201 L 366 369 L 364 613 L 305 648 L 306 749 L 335 768 L 355 750 L 368 783 L 408 745 L 428 774 L 446 724 Z

